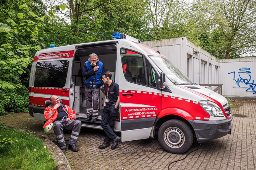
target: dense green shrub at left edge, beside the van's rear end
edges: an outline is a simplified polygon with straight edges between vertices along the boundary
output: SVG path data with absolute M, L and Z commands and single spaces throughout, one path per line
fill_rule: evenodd
M 0 89 L 0 115 L 5 112 L 28 112 L 28 89 L 25 86 L 14 89 Z

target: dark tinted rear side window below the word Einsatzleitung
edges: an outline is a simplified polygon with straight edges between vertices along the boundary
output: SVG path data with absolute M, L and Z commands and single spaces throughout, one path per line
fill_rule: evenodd
M 34 87 L 64 87 L 68 67 L 69 60 L 38 62 Z

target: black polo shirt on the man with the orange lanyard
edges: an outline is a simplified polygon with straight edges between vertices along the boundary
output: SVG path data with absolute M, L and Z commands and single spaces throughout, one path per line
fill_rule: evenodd
M 107 89 L 109 91 L 108 95 Z M 104 84 L 104 92 L 106 95 L 106 99 L 109 99 L 109 102 L 106 102 L 106 104 L 115 104 L 119 96 L 119 85 L 113 81 L 110 86 L 106 83 Z

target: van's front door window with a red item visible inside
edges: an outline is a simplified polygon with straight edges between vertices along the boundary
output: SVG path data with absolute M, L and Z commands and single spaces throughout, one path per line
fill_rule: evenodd
M 156 87 L 156 72 L 147 60 L 145 71 L 141 54 L 121 49 L 121 57 L 123 72 L 128 82 Z

